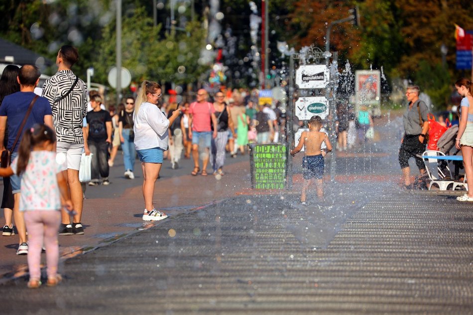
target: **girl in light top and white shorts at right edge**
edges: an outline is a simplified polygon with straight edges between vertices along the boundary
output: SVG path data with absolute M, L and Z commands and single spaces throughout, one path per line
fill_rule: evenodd
M 473 201 L 473 84 L 462 78 L 455 82 L 458 94 L 463 97 L 460 103 L 460 124 L 455 139 L 455 147 L 462 150 L 465 176 L 468 181 L 468 194 L 457 197 L 458 201 Z M 470 183 L 472 182 L 472 183 Z

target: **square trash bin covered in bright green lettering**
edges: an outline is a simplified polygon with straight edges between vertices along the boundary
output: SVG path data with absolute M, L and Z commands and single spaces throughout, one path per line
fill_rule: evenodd
M 287 148 L 285 144 L 248 144 L 252 189 L 285 189 Z

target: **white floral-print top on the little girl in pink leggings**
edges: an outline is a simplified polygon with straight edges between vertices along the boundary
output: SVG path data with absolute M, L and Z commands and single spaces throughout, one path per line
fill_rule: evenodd
M 11 162 L 16 174 L 18 157 Z M 56 162 L 56 152 L 31 151 L 21 177 L 20 211 L 59 210 L 61 199 L 56 174 L 65 166 Z

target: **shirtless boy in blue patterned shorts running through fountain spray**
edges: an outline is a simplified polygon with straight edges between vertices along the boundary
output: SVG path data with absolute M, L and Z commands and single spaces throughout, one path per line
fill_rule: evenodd
M 322 128 L 322 118 L 320 116 L 312 116 L 309 120 L 309 131 L 301 134 L 299 144 L 289 153 L 294 156 L 304 146 L 305 156 L 302 158 L 302 175 L 304 183 L 302 185 L 301 203 L 306 205 L 306 192 L 312 179 L 317 179 L 317 197 L 324 198 L 323 177 L 324 177 L 324 156 L 327 152 L 321 149 L 322 143 L 327 145 L 328 152 L 332 151 L 332 144 L 325 132 L 320 132 Z

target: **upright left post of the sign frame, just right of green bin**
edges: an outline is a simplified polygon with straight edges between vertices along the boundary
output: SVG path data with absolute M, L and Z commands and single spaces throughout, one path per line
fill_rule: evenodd
M 289 58 L 289 105 L 286 109 L 286 189 L 292 189 L 292 156 L 289 150 L 294 147 L 294 56 Z

